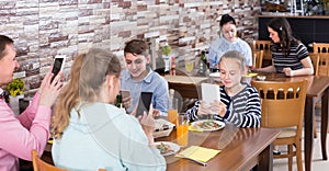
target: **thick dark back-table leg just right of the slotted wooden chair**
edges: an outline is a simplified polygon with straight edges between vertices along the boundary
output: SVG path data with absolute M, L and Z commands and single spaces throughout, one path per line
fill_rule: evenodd
M 314 138 L 314 132 L 313 132 L 313 119 L 314 119 L 314 113 L 313 113 L 313 96 L 306 96 L 306 103 L 305 103 L 305 114 L 304 114 L 304 149 L 305 149 L 305 170 L 310 171 L 310 163 L 311 163 L 311 151 L 313 151 L 313 138 Z

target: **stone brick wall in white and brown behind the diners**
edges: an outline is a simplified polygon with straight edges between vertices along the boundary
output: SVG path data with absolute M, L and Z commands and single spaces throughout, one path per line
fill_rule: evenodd
M 33 93 L 56 55 L 73 57 L 90 47 L 123 57 L 132 38 L 168 42 L 177 52 L 200 52 L 218 36 L 219 20 L 231 14 L 240 37 L 257 38 L 259 0 L 1 0 L 0 34 L 12 37 L 26 93 Z M 179 55 L 181 55 L 179 53 Z

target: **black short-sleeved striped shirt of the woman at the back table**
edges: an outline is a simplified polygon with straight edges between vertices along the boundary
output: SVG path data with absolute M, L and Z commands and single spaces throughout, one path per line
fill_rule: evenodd
M 302 43 L 292 45 L 288 56 L 282 53 L 282 48 L 277 44 L 271 46 L 271 52 L 276 72 L 282 72 L 282 69 L 286 67 L 292 70 L 302 69 L 304 67 L 300 60 L 309 56 L 306 46 Z

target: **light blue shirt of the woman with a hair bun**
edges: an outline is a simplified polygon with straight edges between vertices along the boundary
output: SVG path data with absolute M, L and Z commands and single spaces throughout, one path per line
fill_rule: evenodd
M 214 68 L 219 62 L 220 57 L 228 50 L 238 50 L 246 58 L 246 65 L 252 66 L 252 53 L 249 44 L 237 37 L 235 42 L 228 42 L 225 37 L 219 37 L 211 44 L 207 60 L 211 68 Z

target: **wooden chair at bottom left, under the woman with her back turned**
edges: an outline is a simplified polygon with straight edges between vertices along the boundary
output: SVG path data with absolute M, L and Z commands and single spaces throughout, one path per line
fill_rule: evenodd
M 32 150 L 32 162 L 34 171 L 68 171 L 67 169 L 57 168 L 43 161 L 35 149 Z M 106 171 L 105 169 L 99 169 L 98 171 Z

